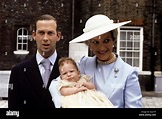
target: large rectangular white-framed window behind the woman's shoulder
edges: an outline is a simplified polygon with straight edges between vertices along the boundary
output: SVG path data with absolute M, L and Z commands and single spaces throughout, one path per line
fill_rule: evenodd
M 118 28 L 117 53 L 128 64 L 142 71 L 143 28 Z

